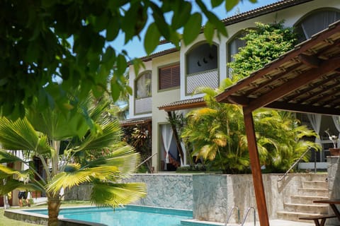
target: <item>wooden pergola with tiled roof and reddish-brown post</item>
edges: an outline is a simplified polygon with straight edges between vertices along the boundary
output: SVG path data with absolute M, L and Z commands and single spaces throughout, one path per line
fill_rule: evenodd
M 227 88 L 216 99 L 243 107 L 259 220 L 261 226 L 268 226 L 252 112 L 267 107 L 340 115 L 340 21 Z

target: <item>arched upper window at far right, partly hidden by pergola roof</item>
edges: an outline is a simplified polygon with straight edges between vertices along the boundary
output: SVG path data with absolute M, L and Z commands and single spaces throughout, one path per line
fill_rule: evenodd
M 336 20 L 340 20 L 339 11 L 331 8 L 317 10 L 302 18 L 302 20 L 295 25 L 295 30 L 300 35 L 300 41 L 302 42 L 317 32 L 324 30 Z

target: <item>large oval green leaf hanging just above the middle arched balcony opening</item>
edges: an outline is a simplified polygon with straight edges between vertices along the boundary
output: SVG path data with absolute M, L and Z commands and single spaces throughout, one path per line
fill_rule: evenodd
M 183 41 L 188 45 L 200 34 L 200 28 L 202 26 L 202 16 L 200 13 L 193 13 L 189 18 L 188 23 L 184 25 Z

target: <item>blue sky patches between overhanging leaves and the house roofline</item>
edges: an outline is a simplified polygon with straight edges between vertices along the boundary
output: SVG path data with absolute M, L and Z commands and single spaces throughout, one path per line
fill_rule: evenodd
M 203 1 L 205 1 L 207 6 L 211 9 L 210 0 L 203 0 Z M 268 4 L 272 4 L 277 1 L 278 0 L 257 0 L 256 4 L 252 4 L 249 0 L 243 0 L 243 1 L 240 1 L 239 4 L 236 7 L 234 7 L 232 11 L 226 12 L 225 7 L 222 4 L 220 7 L 214 8 L 213 12 L 216 14 L 218 18 L 224 19 L 230 16 L 234 16 L 237 13 L 244 13 L 254 8 L 266 6 Z M 196 6 L 193 6 L 193 11 L 196 11 Z M 148 23 L 150 22 L 151 21 L 149 21 Z M 203 24 L 204 23 L 205 21 L 203 20 Z M 141 38 L 144 36 L 145 30 L 142 30 L 142 35 L 140 35 Z M 143 40 L 142 39 L 139 40 L 137 37 L 135 37 L 132 41 L 128 42 L 127 44 L 124 44 L 124 35 L 120 34 L 118 35 L 117 39 L 113 41 L 112 45 L 118 51 L 125 49 L 128 52 L 128 56 L 131 58 L 145 57 L 147 55 L 143 47 Z M 159 47 L 157 47 L 155 52 L 160 52 L 165 49 L 171 49 L 172 47 L 174 46 L 172 46 L 171 44 L 162 44 Z

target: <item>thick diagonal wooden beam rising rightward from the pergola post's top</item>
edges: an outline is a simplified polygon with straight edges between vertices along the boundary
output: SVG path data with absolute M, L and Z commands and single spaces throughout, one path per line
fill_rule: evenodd
M 271 92 L 268 92 L 265 95 L 256 98 L 256 100 L 251 102 L 249 106 L 246 107 L 246 109 L 249 112 L 253 112 L 255 109 L 268 105 L 271 102 L 278 100 L 280 97 L 283 97 L 284 95 L 287 95 L 288 93 L 297 90 L 306 83 L 310 83 L 314 79 L 323 76 L 325 73 L 334 71 L 335 69 L 339 68 L 339 64 L 340 64 L 339 57 L 329 59 L 328 61 L 324 61 L 322 64 L 320 64 L 319 68 L 310 69 L 305 73 L 301 73 L 299 76 L 291 79 L 287 83 L 284 83 L 283 85 L 274 88 L 273 90 L 271 90 Z

